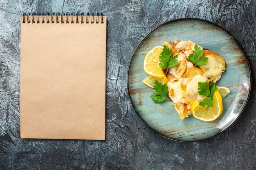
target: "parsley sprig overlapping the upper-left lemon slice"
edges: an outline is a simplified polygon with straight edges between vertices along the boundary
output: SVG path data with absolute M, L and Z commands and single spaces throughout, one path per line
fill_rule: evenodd
M 160 66 L 163 69 L 166 69 L 165 75 L 168 73 L 168 69 L 171 67 L 178 66 L 178 60 L 176 59 L 178 55 L 172 56 L 173 52 L 169 49 L 168 46 L 164 45 L 162 53 L 159 55 Z

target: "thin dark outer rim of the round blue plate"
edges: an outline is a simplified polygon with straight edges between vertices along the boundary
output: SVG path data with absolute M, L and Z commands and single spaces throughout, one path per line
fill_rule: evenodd
M 169 139 L 169 140 L 179 141 L 179 142 L 198 142 L 198 141 L 205 141 L 205 140 L 211 139 L 211 138 L 213 138 L 213 137 L 216 137 L 216 136 L 220 135 L 222 132 L 224 132 L 225 130 L 231 128 L 231 126 L 233 126 L 234 123 L 238 120 L 238 118 L 240 117 L 240 115 L 242 115 L 242 113 L 243 113 L 245 107 L 247 106 L 247 103 L 248 103 L 248 100 L 249 100 L 249 97 L 250 97 L 250 93 L 251 93 L 252 73 L 251 73 L 251 68 L 250 68 L 250 64 L 249 64 L 248 57 L 247 57 L 247 55 L 246 55 L 246 53 L 245 53 L 245 51 L 244 51 L 244 49 L 243 49 L 242 46 L 241 46 L 241 47 L 242 47 L 241 50 L 242 50 L 243 53 L 245 54 L 245 59 L 246 59 L 246 61 L 247 61 L 248 70 L 249 70 L 249 88 L 248 88 L 248 95 L 247 95 L 247 98 L 246 98 L 246 100 L 245 100 L 245 102 L 244 102 L 244 104 L 243 104 L 243 106 L 242 106 L 242 108 L 241 108 L 240 113 L 239 113 L 238 116 L 236 117 L 236 119 L 234 119 L 234 121 L 232 121 L 231 124 L 229 124 L 229 126 L 225 127 L 225 128 L 222 129 L 220 132 L 216 133 L 216 135 L 213 135 L 213 136 L 211 136 L 211 137 L 207 137 L 207 138 L 205 138 L 205 139 L 198 139 L 198 140 L 193 140 L 193 141 L 177 140 L 177 139 L 172 139 L 172 138 L 166 137 L 166 136 L 164 136 L 164 135 L 161 135 L 161 134 L 159 134 L 156 130 L 154 130 L 152 127 L 150 127 L 150 126 L 147 124 L 147 122 L 144 121 L 144 120 L 141 118 L 141 115 L 139 115 L 139 114 L 137 113 L 137 111 L 135 110 L 135 106 L 134 106 L 134 104 L 133 104 L 133 102 L 132 102 L 131 95 L 130 95 L 130 88 L 129 88 L 129 71 L 130 71 L 130 65 L 131 65 L 132 59 L 133 59 L 133 57 L 134 57 L 134 55 L 135 55 L 135 52 L 137 51 L 139 45 L 140 45 L 153 31 L 155 31 L 155 30 L 158 29 L 159 27 L 161 27 L 161 26 L 163 26 L 163 25 L 165 25 L 165 24 L 168 24 L 168 23 L 170 23 L 170 22 L 183 21 L 183 20 L 199 20 L 199 21 L 208 22 L 208 23 L 210 23 L 210 24 L 213 24 L 213 25 L 215 25 L 215 26 L 218 26 L 219 28 L 221 28 L 222 30 L 224 30 L 226 33 L 228 33 L 229 35 L 231 35 L 231 36 L 234 38 L 234 40 L 236 41 L 236 43 L 241 46 L 241 44 L 238 42 L 238 40 L 237 40 L 229 31 L 227 31 L 227 29 L 225 29 L 224 27 L 222 27 L 222 26 L 220 26 L 220 25 L 218 25 L 218 24 L 216 24 L 216 23 L 214 23 L 214 22 L 211 22 L 211 21 L 209 21 L 209 20 L 204 20 L 204 19 L 201 19 L 201 18 L 177 18 L 177 19 L 173 19 L 173 20 L 168 20 L 168 21 L 163 22 L 162 24 L 159 24 L 159 25 L 157 25 L 156 27 L 154 27 L 154 28 L 153 28 L 151 31 L 149 31 L 149 32 L 141 39 L 141 41 L 139 41 L 139 43 L 137 44 L 135 50 L 134 50 L 133 53 L 132 53 L 132 57 L 130 58 L 129 65 L 128 65 L 128 69 L 127 69 L 127 74 L 126 74 L 127 91 L 128 91 L 130 103 L 132 104 L 132 108 L 133 108 L 133 110 L 135 111 L 135 113 L 138 115 L 138 117 L 141 119 L 141 121 L 142 121 L 146 126 L 148 126 L 148 128 L 150 128 L 151 130 L 153 130 L 154 132 L 156 132 L 158 135 L 160 135 L 160 136 L 162 136 L 162 137 L 165 137 L 165 138 L 167 138 L 167 139 Z

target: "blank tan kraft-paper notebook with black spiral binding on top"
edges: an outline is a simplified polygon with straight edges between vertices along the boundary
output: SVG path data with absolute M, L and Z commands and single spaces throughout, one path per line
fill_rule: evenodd
M 20 20 L 20 137 L 105 140 L 107 17 Z

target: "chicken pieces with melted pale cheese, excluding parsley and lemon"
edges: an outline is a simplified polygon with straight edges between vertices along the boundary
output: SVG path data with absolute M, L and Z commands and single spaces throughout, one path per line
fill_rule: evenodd
M 169 89 L 168 96 L 173 101 L 173 106 L 183 120 L 191 114 L 190 108 L 195 100 L 201 102 L 206 96 L 198 94 L 198 82 L 217 82 L 225 70 L 225 60 L 212 51 L 204 50 L 204 57 L 208 57 L 207 65 L 195 67 L 187 60 L 193 53 L 195 43 L 191 41 L 178 42 L 173 44 L 170 41 L 164 42 L 172 50 L 173 56 L 178 55 L 178 66 L 168 70 L 166 75 Z M 200 46 L 201 50 L 203 49 Z

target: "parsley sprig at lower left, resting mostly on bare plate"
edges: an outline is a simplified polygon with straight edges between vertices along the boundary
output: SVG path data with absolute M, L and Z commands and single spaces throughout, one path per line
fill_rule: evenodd
M 153 88 L 155 88 L 155 90 L 153 91 L 153 95 L 151 95 L 150 97 L 154 101 L 154 103 L 162 103 L 165 100 L 171 101 L 167 97 L 168 87 L 166 86 L 166 84 L 163 85 L 155 81 L 155 85 L 153 86 Z

